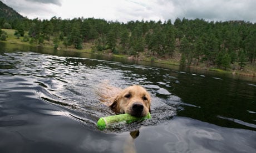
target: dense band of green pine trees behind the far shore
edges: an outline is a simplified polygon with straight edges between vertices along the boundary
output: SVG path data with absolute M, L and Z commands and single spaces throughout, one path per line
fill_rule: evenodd
M 51 40 L 82 49 L 91 43 L 93 50 L 110 50 L 115 54 L 149 57 L 173 57 L 180 53 L 181 64 L 205 63 L 229 68 L 238 63 L 243 68 L 256 60 L 256 24 L 244 21 L 208 22 L 204 19 L 179 19 L 174 23 L 155 21 L 107 22 L 104 19 L 74 18 L 50 20 L 22 19 L 8 23 L 16 35 L 29 43 Z M 7 25 L 0 18 L 2 28 Z M 9 27 L 9 28 L 10 28 Z M 25 33 L 28 34 L 25 34 Z

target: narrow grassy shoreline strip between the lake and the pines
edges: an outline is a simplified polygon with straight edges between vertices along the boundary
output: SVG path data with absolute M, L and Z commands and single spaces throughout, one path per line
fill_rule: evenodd
M 44 44 L 42 45 L 38 45 L 38 44 L 29 44 L 28 42 L 22 42 L 21 38 L 17 39 L 14 35 L 12 35 L 11 33 L 14 31 L 13 29 L 2 29 L 4 31 L 7 32 L 7 40 L 3 41 L 0 40 L 0 42 L 2 43 L 9 43 L 9 44 L 18 44 L 18 45 L 24 45 L 27 47 L 42 47 L 42 48 L 48 48 L 48 49 L 54 49 L 54 44 L 52 42 L 48 42 L 45 41 Z M 158 59 L 157 57 L 154 56 L 150 56 L 150 57 L 146 57 L 145 53 L 141 53 L 138 56 L 132 56 L 132 55 L 125 55 L 125 54 L 114 54 L 114 53 L 110 53 L 109 50 L 105 50 L 105 51 L 92 51 L 91 47 L 93 46 L 93 44 L 90 43 L 86 43 L 83 44 L 83 49 L 78 50 L 75 49 L 73 47 L 65 47 L 63 44 L 60 45 L 60 47 L 58 47 L 56 50 L 60 51 L 60 52 L 74 52 L 74 53 L 87 53 L 87 54 L 98 54 L 98 55 L 103 55 L 106 57 L 116 57 L 116 58 L 125 58 L 127 60 L 140 60 L 142 62 L 154 62 L 154 63 L 159 63 L 159 64 L 166 64 L 166 65 L 175 65 L 175 66 L 179 66 L 181 67 L 179 61 L 177 59 L 163 59 L 160 58 Z M 154 60 L 152 60 L 154 59 Z M 216 67 L 204 67 L 204 66 L 196 66 L 196 65 L 186 65 L 186 68 L 193 68 L 195 70 L 207 70 L 207 71 L 214 71 L 214 72 L 219 72 L 219 73 L 229 73 L 232 75 L 243 75 L 243 76 L 247 76 L 247 77 L 256 77 L 256 72 L 254 70 L 249 70 L 249 68 L 244 68 L 247 72 L 244 72 L 245 70 L 239 70 L 239 69 L 230 69 L 230 70 L 223 70 L 223 69 L 219 69 Z M 233 67 L 235 67 L 235 65 L 233 65 Z M 256 67 L 256 65 L 249 65 L 247 67 L 252 67 L 250 69 L 253 69 L 254 67 Z M 254 68 L 256 70 L 256 68 Z

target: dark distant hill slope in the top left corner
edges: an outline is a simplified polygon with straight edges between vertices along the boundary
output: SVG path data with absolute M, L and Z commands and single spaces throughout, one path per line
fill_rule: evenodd
M 6 21 L 13 21 L 14 19 L 23 19 L 24 17 L 0 1 L 0 18 L 4 18 Z

